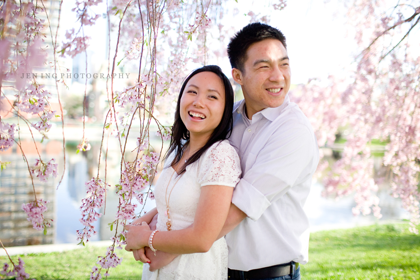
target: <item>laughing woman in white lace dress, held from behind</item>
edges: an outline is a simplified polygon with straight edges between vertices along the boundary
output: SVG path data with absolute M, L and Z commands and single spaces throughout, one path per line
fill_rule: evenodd
M 233 103 L 232 86 L 218 66 L 204 66 L 185 79 L 155 187 L 157 209 L 128 227 L 125 248 L 149 246 L 181 255 L 153 273 L 145 264 L 143 279 L 227 279 L 226 241 L 216 239 L 241 172 L 239 156 L 226 140 Z M 158 231 L 151 231 L 146 223 L 156 213 Z

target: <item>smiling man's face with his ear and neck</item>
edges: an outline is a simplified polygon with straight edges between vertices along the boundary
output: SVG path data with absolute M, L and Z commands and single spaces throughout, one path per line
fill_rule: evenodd
M 232 69 L 234 80 L 242 86 L 246 112 L 252 115 L 283 104 L 290 89 L 290 65 L 286 48 L 276 39 L 252 44 L 247 52 L 244 70 Z

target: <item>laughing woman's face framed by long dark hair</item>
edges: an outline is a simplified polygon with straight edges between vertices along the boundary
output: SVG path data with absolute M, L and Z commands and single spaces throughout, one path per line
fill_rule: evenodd
M 180 100 L 180 117 L 190 138 L 208 137 L 223 117 L 225 89 L 219 76 L 201 72 L 192 76 Z

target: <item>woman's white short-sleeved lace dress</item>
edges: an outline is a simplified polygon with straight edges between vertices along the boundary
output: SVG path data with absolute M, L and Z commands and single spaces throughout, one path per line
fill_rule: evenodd
M 167 165 L 170 165 L 171 161 L 172 159 L 168 158 Z M 186 228 L 194 222 L 201 187 L 209 185 L 235 187 L 241 173 L 239 156 L 228 140 L 213 144 L 199 160 L 186 167 L 181 177 L 174 174 L 171 179 L 173 172 L 172 167 L 164 168 L 155 186 L 154 195 L 159 213 L 156 228 L 160 231 L 167 230 L 165 192 L 168 183 L 166 194 L 168 197 L 175 184 L 169 208 L 171 229 L 177 230 Z M 179 255 L 171 263 L 154 272 L 150 272 L 149 265 L 145 264 L 142 280 L 225 280 L 227 266 L 228 247 L 225 239 L 220 238 L 214 242 L 208 252 Z

